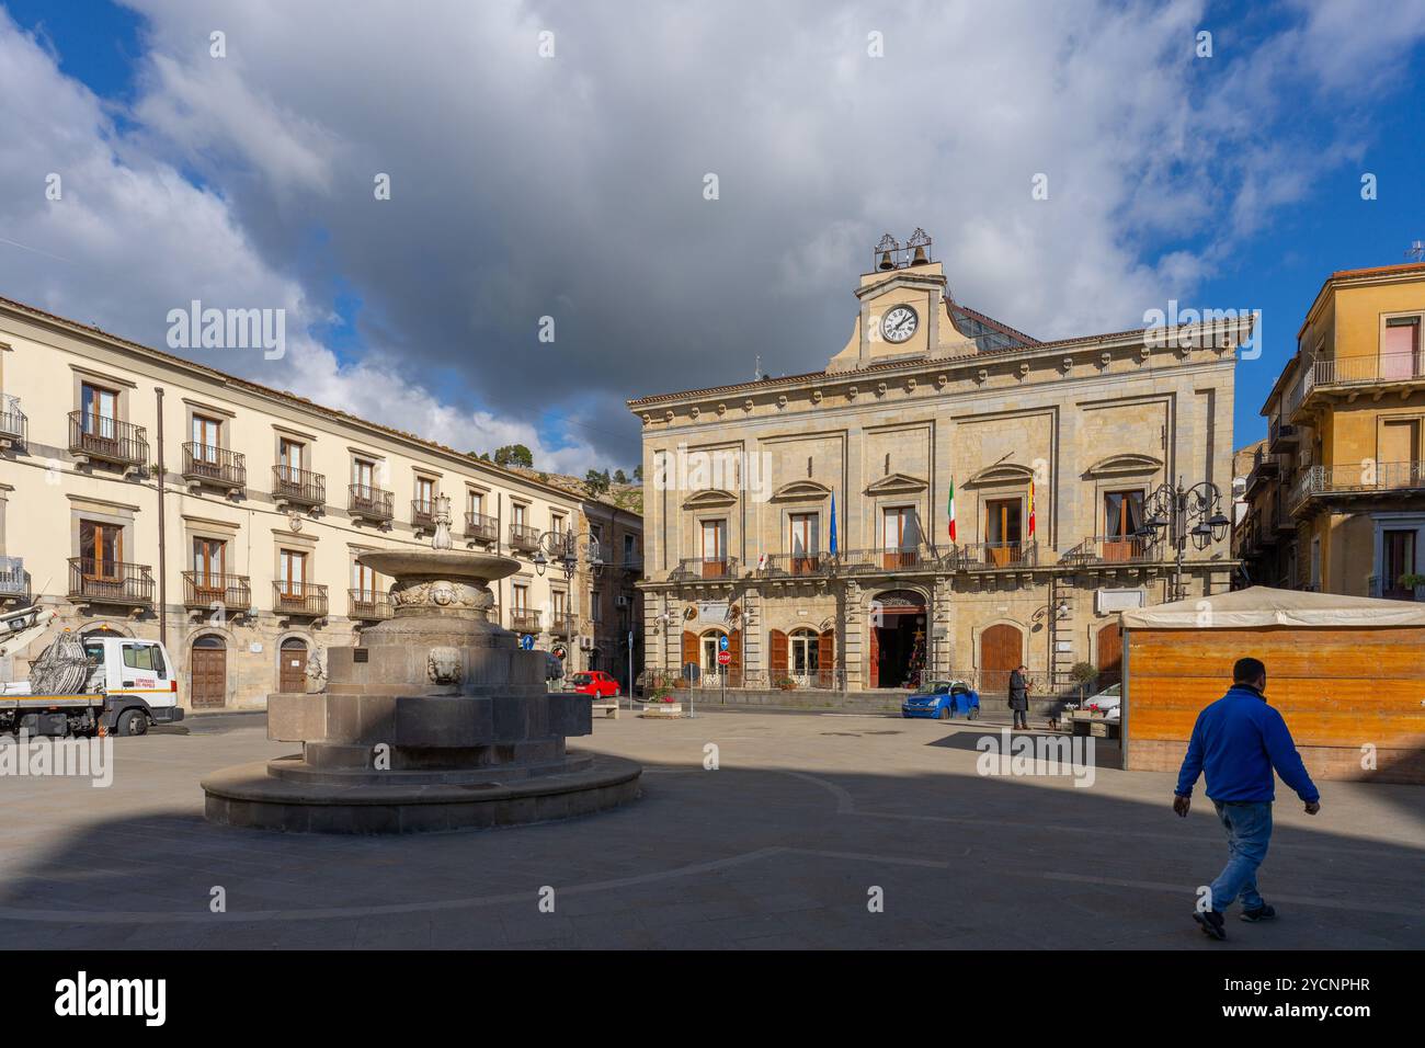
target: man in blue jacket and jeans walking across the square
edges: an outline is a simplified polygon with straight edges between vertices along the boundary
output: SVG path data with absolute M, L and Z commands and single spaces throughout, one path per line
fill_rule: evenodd
M 1173 810 L 1187 818 L 1197 776 L 1207 773 L 1207 797 L 1227 830 L 1227 865 L 1211 884 L 1210 907 L 1193 914 L 1213 938 L 1227 938 L 1223 914 L 1238 895 L 1244 921 L 1277 915 L 1257 893 L 1257 867 L 1271 841 L 1271 801 L 1275 781 L 1290 786 L 1307 806 L 1321 810 L 1321 793 L 1307 774 L 1287 721 L 1267 704 L 1267 667 L 1258 659 L 1238 659 L 1227 694 L 1197 714 L 1177 776 Z

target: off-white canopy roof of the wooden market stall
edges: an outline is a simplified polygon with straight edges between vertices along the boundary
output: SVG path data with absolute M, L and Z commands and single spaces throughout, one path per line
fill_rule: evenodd
M 1425 626 L 1425 605 L 1251 586 L 1231 593 L 1123 612 L 1123 626 L 1127 629 Z

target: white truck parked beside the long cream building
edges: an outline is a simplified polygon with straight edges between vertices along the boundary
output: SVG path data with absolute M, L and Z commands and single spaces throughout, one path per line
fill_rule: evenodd
M 48 632 L 53 617 L 38 606 L 0 615 L 0 666 Z M 178 676 L 164 646 L 103 627 L 84 636 L 63 630 L 26 680 L 0 682 L 0 731 L 141 736 L 180 720 Z

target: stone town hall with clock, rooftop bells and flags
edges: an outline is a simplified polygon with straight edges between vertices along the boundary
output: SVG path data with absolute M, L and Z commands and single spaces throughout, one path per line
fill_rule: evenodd
M 919 231 L 875 258 L 825 371 L 630 401 L 648 667 L 849 692 L 993 693 L 1022 662 L 1040 696 L 1074 663 L 1112 680 L 1117 612 L 1230 586 L 1226 519 L 1178 565 L 1144 518 L 1178 482 L 1231 512 L 1251 318 L 1040 342 L 956 302 Z

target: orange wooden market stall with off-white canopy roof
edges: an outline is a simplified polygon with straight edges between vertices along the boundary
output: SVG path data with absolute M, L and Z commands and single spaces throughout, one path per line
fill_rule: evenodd
M 1121 622 L 1126 767 L 1176 771 L 1254 656 L 1314 777 L 1425 783 L 1425 605 L 1253 586 Z

